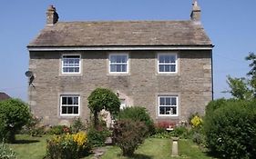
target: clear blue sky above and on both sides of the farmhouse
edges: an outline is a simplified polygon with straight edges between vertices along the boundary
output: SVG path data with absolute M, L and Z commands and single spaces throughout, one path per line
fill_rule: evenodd
M 46 25 L 55 5 L 59 21 L 186 20 L 192 0 L 26 0 L 0 2 L 0 92 L 27 100 L 26 45 Z M 201 22 L 215 45 L 214 97 L 229 97 L 226 76 L 245 76 L 244 57 L 256 53 L 255 0 L 199 0 Z

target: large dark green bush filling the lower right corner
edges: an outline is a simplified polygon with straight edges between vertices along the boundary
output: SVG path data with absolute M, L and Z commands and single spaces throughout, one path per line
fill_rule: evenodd
M 207 109 L 206 144 L 214 154 L 227 158 L 256 156 L 256 101 L 217 101 Z M 213 107 L 212 105 L 208 105 Z

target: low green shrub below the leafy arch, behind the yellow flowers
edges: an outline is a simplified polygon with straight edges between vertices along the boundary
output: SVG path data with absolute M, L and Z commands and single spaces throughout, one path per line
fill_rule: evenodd
M 90 127 L 87 130 L 88 134 L 88 142 L 93 146 L 102 146 L 105 145 L 105 141 L 107 137 L 111 134 L 107 129 L 95 129 L 94 127 Z

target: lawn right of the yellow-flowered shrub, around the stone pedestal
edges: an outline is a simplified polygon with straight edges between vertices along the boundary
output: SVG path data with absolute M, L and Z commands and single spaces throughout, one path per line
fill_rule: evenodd
M 170 139 L 148 138 L 135 152 L 133 157 L 121 156 L 121 150 L 117 146 L 109 146 L 102 159 L 213 159 L 200 147 L 190 140 L 179 140 L 179 156 L 171 157 Z M 85 159 L 91 159 L 88 156 Z

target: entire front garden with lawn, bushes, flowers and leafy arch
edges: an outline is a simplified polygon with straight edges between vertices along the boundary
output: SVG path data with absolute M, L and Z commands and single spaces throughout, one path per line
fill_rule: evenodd
M 219 99 L 207 105 L 205 116 L 191 114 L 179 124 L 154 123 L 146 108 L 119 110 L 118 96 L 97 88 L 88 97 L 89 121 L 75 118 L 68 126 L 49 127 L 40 124 L 27 104 L 8 99 L 0 102 L 0 158 L 251 159 L 256 156 L 255 104 L 253 99 Z M 103 109 L 115 116 L 111 127 L 99 115 Z M 172 137 L 179 137 L 178 156 L 171 155 Z

